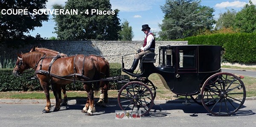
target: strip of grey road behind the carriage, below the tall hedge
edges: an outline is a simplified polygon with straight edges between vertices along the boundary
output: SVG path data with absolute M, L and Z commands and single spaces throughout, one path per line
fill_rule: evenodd
M 256 71 L 240 70 L 240 69 L 221 69 L 221 72 L 229 72 L 237 75 L 244 75 L 256 78 Z

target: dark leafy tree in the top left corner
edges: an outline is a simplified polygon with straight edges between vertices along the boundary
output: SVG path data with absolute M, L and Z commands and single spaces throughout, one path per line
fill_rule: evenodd
M 33 14 L 33 9 L 46 9 L 47 0 L 0 0 L 0 42 L 10 39 L 24 39 L 24 33 L 41 27 L 48 15 Z M 12 11 L 12 14 L 7 14 Z M 17 9 L 25 10 L 26 14 L 16 14 Z

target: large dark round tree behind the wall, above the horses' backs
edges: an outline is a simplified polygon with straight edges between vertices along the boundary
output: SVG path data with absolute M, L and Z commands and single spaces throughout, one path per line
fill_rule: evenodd
M 60 40 L 118 40 L 121 30 L 118 9 L 112 10 L 109 0 L 68 0 L 54 9 L 77 9 L 79 14 L 54 15 L 55 33 Z M 99 13 L 93 13 L 97 9 Z M 101 14 L 108 11 L 111 14 Z M 83 12 L 83 13 L 80 13 Z

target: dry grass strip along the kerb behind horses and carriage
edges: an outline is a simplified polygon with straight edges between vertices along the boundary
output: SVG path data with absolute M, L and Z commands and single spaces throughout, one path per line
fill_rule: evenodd
M 157 87 L 156 99 L 161 100 L 173 100 L 175 94 L 163 86 L 162 81 L 156 74 L 149 76 L 149 80 Z M 247 97 L 256 96 L 256 78 L 245 76 L 242 79 L 244 82 Z M 117 90 L 108 90 L 109 98 L 116 99 L 118 95 Z M 87 93 L 85 91 L 68 91 L 67 96 L 69 99 L 84 99 L 87 98 Z M 54 95 L 50 92 L 50 98 L 54 99 Z M 95 94 L 95 98 L 99 98 L 99 92 Z M 180 98 L 184 98 L 181 96 Z M 0 99 L 45 99 L 43 91 L 38 92 L 0 92 Z

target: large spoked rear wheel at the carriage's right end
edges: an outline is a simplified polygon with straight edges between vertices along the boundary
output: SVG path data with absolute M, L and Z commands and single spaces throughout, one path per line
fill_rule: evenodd
M 202 104 L 209 113 L 228 116 L 236 113 L 244 104 L 246 91 L 243 81 L 236 75 L 220 72 L 204 82 L 201 95 Z

